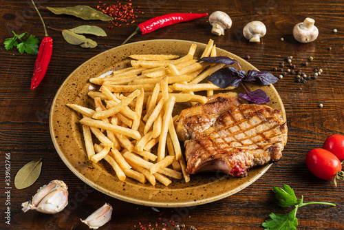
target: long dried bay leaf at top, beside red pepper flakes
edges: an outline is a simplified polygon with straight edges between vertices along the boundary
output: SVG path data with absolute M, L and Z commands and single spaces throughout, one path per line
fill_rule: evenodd
M 84 20 L 114 20 L 113 17 L 109 17 L 107 14 L 103 14 L 103 12 L 89 6 L 47 7 L 47 10 L 50 10 L 54 14 L 68 14 Z

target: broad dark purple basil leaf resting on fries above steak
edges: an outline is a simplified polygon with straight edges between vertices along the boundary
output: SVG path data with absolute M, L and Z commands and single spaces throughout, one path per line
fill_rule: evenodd
M 229 86 L 237 87 L 245 77 L 246 73 L 244 71 L 237 70 L 235 67 L 226 67 L 213 72 L 208 77 L 208 81 L 224 89 Z

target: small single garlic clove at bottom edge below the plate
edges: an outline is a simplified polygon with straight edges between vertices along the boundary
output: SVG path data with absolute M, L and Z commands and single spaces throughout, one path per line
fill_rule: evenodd
M 102 207 L 94 211 L 86 220 L 81 220 L 81 222 L 87 224 L 90 229 L 98 229 L 104 224 L 111 220 L 112 207 L 111 205 L 105 203 Z

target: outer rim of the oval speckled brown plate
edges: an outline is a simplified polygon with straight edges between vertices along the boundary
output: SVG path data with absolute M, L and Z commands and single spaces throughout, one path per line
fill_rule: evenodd
M 158 39 L 158 40 L 150 40 L 150 41 L 139 41 L 136 43 L 129 43 L 127 45 L 122 45 L 120 48 L 125 48 L 126 46 L 130 46 L 130 45 L 144 45 L 147 43 L 155 43 L 155 42 L 161 42 L 163 41 L 164 43 L 169 43 L 169 42 L 182 42 L 182 43 L 195 43 L 198 45 L 205 45 L 203 43 L 197 43 L 197 42 L 193 42 L 193 41 L 184 41 L 184 40 L 172 40 L 172 39 Z M 85 182 L 87 185 L 93 187 L 94 189 L 97 189 L 98 191 L 107 194 L 111 197 L 114 198 L 118 198 L 120 200 L 124 200 L 127 202 L 131 202 L 131 203 L 135 203 L 138 205 L 146 205 L 146 206 L 153 206 L 153 207 L 189 207 L 189 206 L 195 206 L 195 205 L 201 205 L 201 204 L 206 204 L 208 202 L 214 202 L 216 200 L 220 200 L 222 198 L 226 198 L 228 196 L 231 196 L 235 193 L 237 193 L 238 191 L 241 191 L 242 189 L 248 187 L 249 185 L 251 185 L 253 182 L 255 182 L 258 178 L 260 178 L 270 167 L 270 165 L 266 165 L 264 167 L 259 167 L 259 173 L 256 174 L 255 176 L 252 176 L 250 178 L 250 180 L 244 182 L 243 184 L 241 184 L 240 186 L 237 186 L 235 189 L 232 189 L 230 191 L 224 191 L 222 194 L 218 194 L 217 196 L 210 196 L 210 197 L 204 197 L 201 198 L 199 200 L 189 200 L 189 201 L 184 201 L 184 202 L 164 202 L 164 200 L 160 200 L 160 201 L 152 201 L 152 200 L 141 200 L 140 198 L 135 198 L 135 197 L 128 197 L 126 196 L 126 194 L 120 194 L 120 193 L 114 193 L 111 192 L 109 190 L 107 190 L 105 187 L 98 185 L 97 181 L 91 181 L 88 180 L 87 178 L 85 178 L 85 176 L 83 176 L 83 174 L 80 173 L 80 171 L 78 171 L 78 169 L 76 169 L 76 167 L 73 167 L 71 165 L 71 163 L 69 162 L 69 160 L 67 159 L 67 155 L 63 154 L 63 152 L 61 151 L 61 149 L 58 146 L 57 140 L 55 138 L 54 135 L 54 128 L 53 128 L 53 114 L 54 114 L 54 105 L 56 104 L 56 100 L 58 98 L 59 93 L 61 92 L 61 90 L 63 89 L 65 83 L 68 81 L 69 78 L 71 78 L 73 76 L 74 73 L 78 72 L 78 70 L 80 70 L 81 68 L 83 68 L 84 65 L 87 65 L 87 63 L 92 62 L 94 59 L 98 58 L 99 56 L 105 55 L 107 52 L 114 52 L 114 50 L 116 50 L 118 48 L 112 48 L 111 50 L 107 50 L 105 52 L 102 52 L 96 56 L 94 56 L 92 59 L 89 59 L 88 61 L 85 61 L 85 63 L 83 63 L 82 65 L 80 65 L 79 67 L 76 68 L 76 70 L 74 70 L 71 74 L 69 74 L 69 76 L 67 77 L 67 79 L 65 79 L 65 81 L 62 83 L 61 87 L 58 89 L 58 91 L 56 92 L 56 95 L 54 97 L 54 100 L 52 102 L 52 108 L 50 111 L 50 134 L 52 136 L 52 141 L 54 143 L 54 147 L 56 149 L 56 151 L 58 152 L 58 155 L 61 157 L 61 159 L 63 160 L 63 162 L 65 163 L 65 165 L 76 175 L 78 176 L 78 178 L 80 178 L 80 180 L 83 180 L 83 182 Z M 231 57 L 233 57 L 234 59 L 236 59 L 237 61 L 239 61 L 239 63 L 246 63 L 247 65 L 252 66 L 253 69 L 257 70 L 257 68 L 255 68 L 253 65 L 251 65 L 250 63 L 248 63 L 247 61 L 245 61 L 244 59 L 241 59 L 239 56 L 236 56 L 235 54 L 232 54 L 226 50 L 222 50 L 217 48 L 217 50 L 220 50 L 221 52 L 226 52 L 228 54 L 230 54 Z M 251 90 L 255 90 L 256 86 L 252 86 L 252 85 L 248 85 L 248 87 Z M 284 119 L 284 121 L 286 121 L 286 112 L 283 106 L 283 103 L 281 101 L 281 98 L 277 92 L 277 90 L 275 89 L 275 87 L 273 85 L 269 85 L 268 87 L 270 87 L 270 90 L 272 90 L 273 93 L 275 93 L 276 95 L 276 100 L 277 103 L 279 103 L 279 105 L 281 106 L 281 112 L 282 112 L 282 117 Z M 240 178 L 238 178 L 238 180 L 240 180 Z M 216 183 L 216 181 L 214 182 Z M 211 184 L 211 183 L 210 183 Z M 140 185 L 139 185 L 140 186 Z M 203 185 L 202 185 L 203 186 Z M 212 185 L 210 185 L 212 186 Z M 153 187 L 152 187 L 153 189 Z M 160 190 L 164 190 L 164 189 L 160 189 Z M 169 189 L 166 189 L 165 191 L 167 191 Z

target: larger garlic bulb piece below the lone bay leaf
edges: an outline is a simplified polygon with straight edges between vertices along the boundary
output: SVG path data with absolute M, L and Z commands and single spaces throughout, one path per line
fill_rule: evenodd
M 55 214 L 62 211 L 68 204 L 68 187 L 62 180 L 52 180 L 41 187 L 32 200 L 23 202 L 23 212 L 30 209 L 41 213 Z

